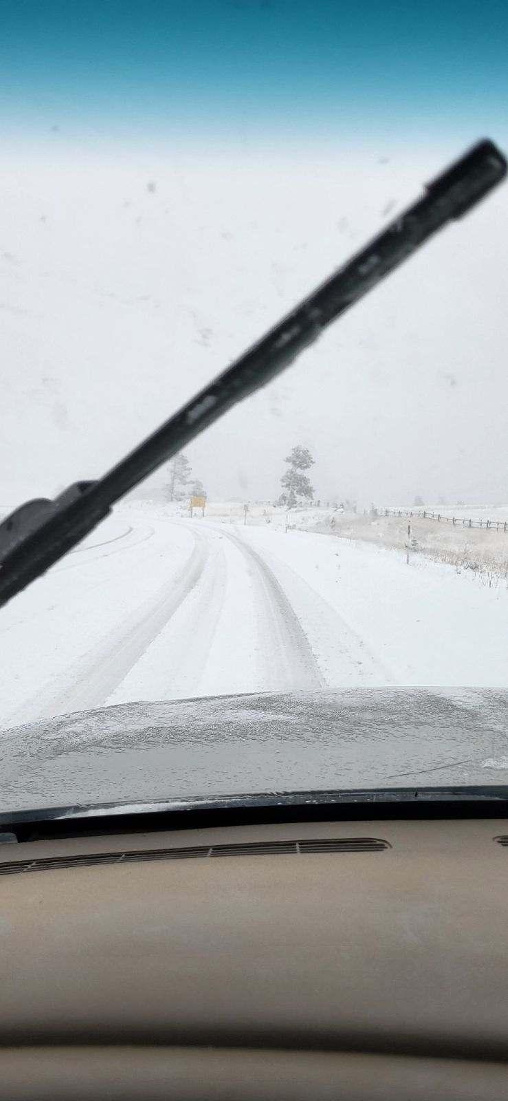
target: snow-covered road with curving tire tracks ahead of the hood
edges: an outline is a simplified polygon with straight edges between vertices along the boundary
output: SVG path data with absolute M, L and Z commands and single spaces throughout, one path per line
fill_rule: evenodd
M 143 699 L 508 683 L 505 587 L 135 505 L 2 611 L 0 644 L 3 728 Z

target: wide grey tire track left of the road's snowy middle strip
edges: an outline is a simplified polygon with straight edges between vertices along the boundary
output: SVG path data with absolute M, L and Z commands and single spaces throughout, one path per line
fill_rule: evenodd
M 37 708 L 40 718 L 97 708 L 111 696 L 198 584 L 206 568 L 208 545 L 200 533 L 192 532 L 192 536 L 194 549 L 177 578 L 157 589 L 66 672 L 69 687 Z

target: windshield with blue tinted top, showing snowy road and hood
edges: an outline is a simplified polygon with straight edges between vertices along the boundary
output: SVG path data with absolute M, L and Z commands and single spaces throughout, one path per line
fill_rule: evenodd
M 0 520 L 506 150 L 507 24 L 4 4 Z M 2 808 L 504 783 L 507 228 L 500 186 L 0 609 Z

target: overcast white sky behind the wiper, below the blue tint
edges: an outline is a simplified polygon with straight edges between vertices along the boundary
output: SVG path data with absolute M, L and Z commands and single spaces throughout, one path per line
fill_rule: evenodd
M 4 156 L 0 504 L 104 472 L 461 152 Z M 302 443 L 322 499 L 506 503 L 507 229 L 505 185 L 191 445 L 209 495 Z

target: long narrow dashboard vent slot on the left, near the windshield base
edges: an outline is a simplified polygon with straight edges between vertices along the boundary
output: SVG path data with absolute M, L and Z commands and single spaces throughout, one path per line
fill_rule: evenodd
M 507 839 L 508 843 L 508 839 Z M 0 875 L 22 872 L 55 872 L 64 868 L 96 868 L 98 864 L 133 864 L 150 860 L 195 860 L 213 857 L 303 857 L 318 853 L 382 852 L 388 841 L 376 837 L 316 838 L 305 841 L 246 841 L 236 844 L 198 844 L 185 849 L 139 849 L 131 852 L 92 852 L 77 857 L 41 857 L 0 863 Z

